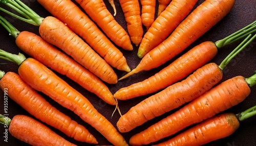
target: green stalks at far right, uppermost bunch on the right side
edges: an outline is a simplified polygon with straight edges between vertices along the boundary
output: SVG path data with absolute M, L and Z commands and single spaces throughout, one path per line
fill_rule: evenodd
M 237 41 L 245 36 L 248 36 L 248 34 L 252 34 L 254 32 L 256 32 L 256 21 L 250 23 L 248 26 L 242 28 L 241 30 L 239 30 L 237 32 L 234 32 L 233 34 L 231 34 L 221 40 L 216 41 L 215 44 L 218 48 L 221 48 L 227 44 Z

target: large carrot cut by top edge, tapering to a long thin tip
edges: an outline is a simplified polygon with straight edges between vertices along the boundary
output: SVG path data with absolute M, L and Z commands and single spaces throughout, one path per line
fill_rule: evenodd
M 180 23 L 166 40 L 147 53 L 138 66 L 123 78 L 141 70 L 158 67 L 172 59 L 219 22 L 233 5 L 234 0 L 207 0 L 203 2 Z

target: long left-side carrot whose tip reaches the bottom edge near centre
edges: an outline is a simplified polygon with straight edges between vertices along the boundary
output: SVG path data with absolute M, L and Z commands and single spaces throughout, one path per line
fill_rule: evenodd
M 122 135 L 88 99 L 37 60 L 27 58 L 20 64 L 18 73 L 32 88 L 45 93 L 63 107 L 73 111 L 114 145 L 127 145 Z

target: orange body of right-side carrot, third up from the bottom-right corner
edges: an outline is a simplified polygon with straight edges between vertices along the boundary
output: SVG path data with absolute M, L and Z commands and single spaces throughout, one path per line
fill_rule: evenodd
M 222 71 L 216 63 L 204 65 L 185 80 L 165 88 L 132 107 L 117 121 L 118 130 L 129 132 L 156 116 L 198 98 L 216 85 L 222 76 Z

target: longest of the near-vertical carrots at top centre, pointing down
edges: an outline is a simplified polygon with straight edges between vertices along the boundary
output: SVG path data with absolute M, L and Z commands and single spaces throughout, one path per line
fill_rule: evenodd
M 127 30 L 132 42 L 138 46 L 142 40 L 143 28 L 140 16 L 140 6 L 138 0 L 119 0 L 125 21 L 127 22 Z

